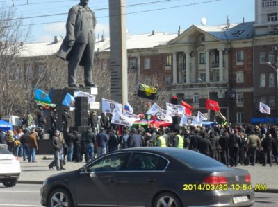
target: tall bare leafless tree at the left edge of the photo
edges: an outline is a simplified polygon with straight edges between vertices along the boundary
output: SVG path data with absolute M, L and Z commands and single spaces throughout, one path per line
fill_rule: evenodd
M 22 19 L 16 18 L 15 14 L 14 8 L 2 9 L 0 12 L 1 114 L 13 114 L 14 109 L 17 109 L 16 103 L 21 100 L 22 87 L 17 79 L 22 74 L 18 74 L 18 57 L 31 32 L 30 27 L 23 28 Z

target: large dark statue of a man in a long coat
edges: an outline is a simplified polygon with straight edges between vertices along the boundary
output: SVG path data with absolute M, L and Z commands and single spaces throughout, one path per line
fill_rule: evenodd
M 57 57 L 68 61 L 69 87 L 79 87 L 76 83 L 76 72 L 79 65 L 84 67 L 85 86 L 92 87 L 92 67 L 95 51 L 95 14 L 88 7 L 89 0 L 80 0 L 73 6 L 67 17 L 67 34 Z

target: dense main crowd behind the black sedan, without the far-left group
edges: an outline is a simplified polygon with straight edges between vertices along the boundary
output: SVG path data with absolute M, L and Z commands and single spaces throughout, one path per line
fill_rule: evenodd
M 99 125 L 101 125 L 99 123 Z M 255 165 L 273 160 L 278 164 L 277 127 L 266 125 L 187 126 L 183 129 L 168 127 L 129 128 L 98 127 L 92 125 L 80 134 L 77 131 L 54 131 L 54 154 L 59 151 L 57 170 L 63 169 L 63 160 L 69 162 L 92 161 L 97 156 L 129 147 L 178 147 L 195 150 L 211 156 L 225 165 Z M 58 140 L 58 141 L 57 141 Z M 60 160 L 60 161 L 58 161 Z M 53 165 L 49 166 L 49 169 Z

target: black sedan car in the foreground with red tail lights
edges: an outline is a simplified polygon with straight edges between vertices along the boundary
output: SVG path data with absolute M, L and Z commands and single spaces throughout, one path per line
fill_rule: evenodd
M 174 147 L 118 150 L 47 178 L 43 206 L 252 206 L 247 170 Z

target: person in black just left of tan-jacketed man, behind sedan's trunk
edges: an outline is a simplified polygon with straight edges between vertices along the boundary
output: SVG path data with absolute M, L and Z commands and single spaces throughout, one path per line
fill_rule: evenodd
M 231 167 L 238 165 L 238 152 L 241 139 L 238 136 L 238 129 L 234 129 L 234 134 L 229 137 L 230 165 Z

